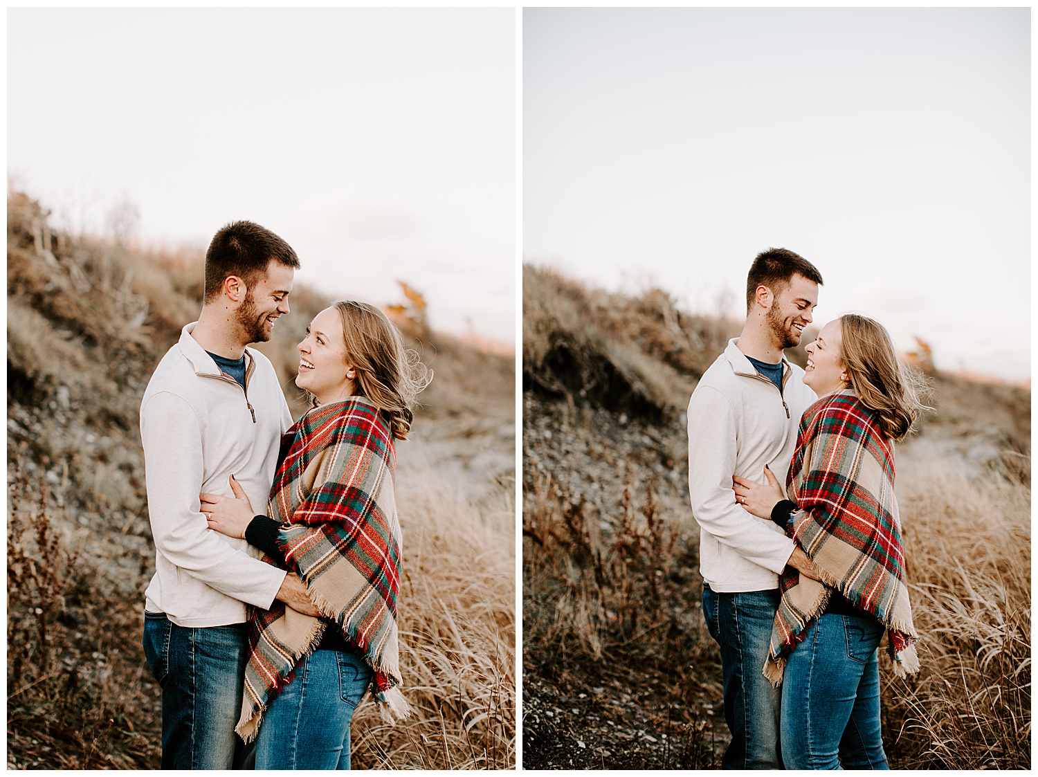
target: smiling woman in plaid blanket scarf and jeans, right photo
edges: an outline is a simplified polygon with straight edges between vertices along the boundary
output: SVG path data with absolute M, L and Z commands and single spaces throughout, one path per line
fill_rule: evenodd
M 821 398 L 800 420 L 789 499 L 768 470 L 767 484 L 735 478 L 736 500 L 786 528 L 824 581 L 786 568 L 764 674 L 783 686 L 787 769 L 887 769 L 877 658 L 884 628 L 895 673 L 919 670 L 891 441 L 908 434 L 924 406 L 871 318 L 829 322 L 807 351 L 803 382 Z

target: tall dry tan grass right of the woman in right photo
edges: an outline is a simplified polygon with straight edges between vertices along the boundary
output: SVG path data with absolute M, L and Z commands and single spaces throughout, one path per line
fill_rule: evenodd
M 898 496 L 922 669 L 882 693 L 905 768 L 1031 766 L 1031 490 L 921 440 Z

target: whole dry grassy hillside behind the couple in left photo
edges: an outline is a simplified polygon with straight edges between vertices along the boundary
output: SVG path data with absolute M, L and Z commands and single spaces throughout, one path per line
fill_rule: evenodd
M 305 257 L 304 257 L 305 260 Z M 54 232 L 7 201 L 7 761 L 159 765 L 159 689 L 140 647 L 155 570 L 138 433 L 162 355 L 200 309 L 201 256 Z M 261 345 L 294 415 L 306 325 L 329 300 L 300 286 Z M 354 762 L 514 762 L 514 362 L 394 315 L 436 372 L 399 449 L 402 666 L 416 715 L 355 717 Z M 449 520 L 448 520 L 449 519 Z

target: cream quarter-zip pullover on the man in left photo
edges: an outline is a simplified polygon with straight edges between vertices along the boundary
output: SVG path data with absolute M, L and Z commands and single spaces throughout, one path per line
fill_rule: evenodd
M 191 336 L 194 326 L 184 327 L 147 384 L 140 436 L 156 549 L 145 609 L 200 628 L 244 622 L 246 604 L 268 609 L 284 580 L 245 539 L 210 529 L 198 495 L 234 496 L 234 475 L 252 509 L 266 512 L 292 416 L 266 356 L 245 350 L 243 389 Z

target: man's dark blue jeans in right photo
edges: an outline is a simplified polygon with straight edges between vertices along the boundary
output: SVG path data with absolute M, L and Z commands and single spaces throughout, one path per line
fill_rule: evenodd
M 764 676 L 778 590 L 717 593 L 703 584 L 703 615 L 720 646 L 725 720 L 732 744 L 722 769 L 782 769 L 782 691 Z

